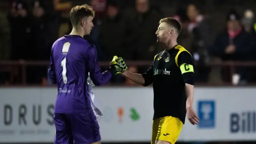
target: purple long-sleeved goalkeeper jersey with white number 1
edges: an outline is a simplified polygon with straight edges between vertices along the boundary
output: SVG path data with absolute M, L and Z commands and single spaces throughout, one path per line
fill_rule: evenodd
M 81 36 L 65 35 L 52 45 L 48 75 L 58 85 L 55 113 L 80 113 L 92 110 L 88 93 L 88 72 L 96 86 L 106 84 L 110 70 L 101 72 L 94 45 Z

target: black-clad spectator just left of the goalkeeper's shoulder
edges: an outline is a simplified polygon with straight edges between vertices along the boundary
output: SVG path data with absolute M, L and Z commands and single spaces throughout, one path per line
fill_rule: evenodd
M 59 14 L 53 3 L 32 0 L 32 34 L 38 60 L 48 60 L 52 44 L 58 39 Z

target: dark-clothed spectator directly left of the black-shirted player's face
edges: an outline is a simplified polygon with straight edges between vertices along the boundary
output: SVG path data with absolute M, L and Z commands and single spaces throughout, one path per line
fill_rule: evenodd
M 136 41 L 136 60 L 152 60 L 163 49 L 158 48 L 155 32 L 162 15 L 150 7 L 149 0 L 136 0 L 136 16 L 133 19 Z

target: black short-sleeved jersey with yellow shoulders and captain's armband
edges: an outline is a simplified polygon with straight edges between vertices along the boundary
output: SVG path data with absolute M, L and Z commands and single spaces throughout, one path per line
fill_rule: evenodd
M 192 55 L 182 46 L 163 51 L 154 57 L 150 68 L 142 74 L 144 86 L 153 83 L 154 117 L 172 116 L 183 123 L 186 117 L 185 83 L 194 85 Z

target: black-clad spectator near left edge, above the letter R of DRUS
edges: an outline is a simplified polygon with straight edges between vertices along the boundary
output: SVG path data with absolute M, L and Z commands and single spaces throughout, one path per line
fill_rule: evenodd
M 30 60 L 32 45 L 31 16 L 28 11 L 28 4 L 23 0 L 14 1 L 8 14 L 11 28 L 11 59 Z

